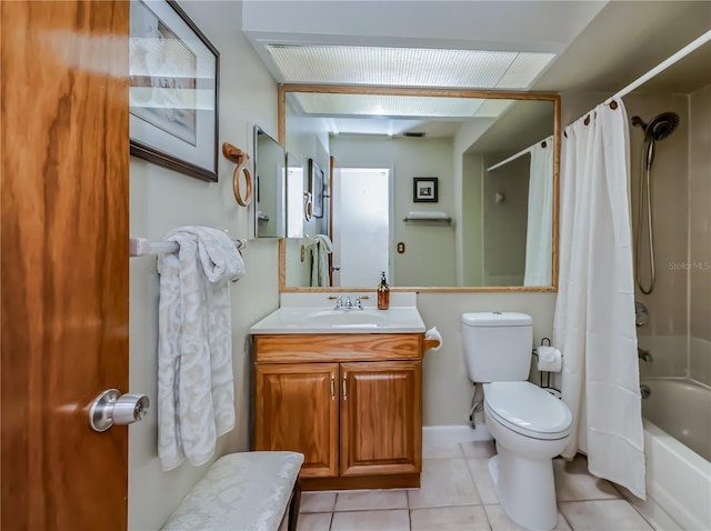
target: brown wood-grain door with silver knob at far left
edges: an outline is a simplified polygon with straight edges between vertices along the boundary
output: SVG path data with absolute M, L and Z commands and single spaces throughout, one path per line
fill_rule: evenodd
M 0 527 L 123 530 L 129 3 L 0 2 Z

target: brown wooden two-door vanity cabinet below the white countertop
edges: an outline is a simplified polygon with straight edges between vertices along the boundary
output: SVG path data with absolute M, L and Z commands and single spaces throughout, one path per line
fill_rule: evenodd
M 254 450 L 304 454 L 306 490 L 419 487 L 422 334 L 254 337 Z

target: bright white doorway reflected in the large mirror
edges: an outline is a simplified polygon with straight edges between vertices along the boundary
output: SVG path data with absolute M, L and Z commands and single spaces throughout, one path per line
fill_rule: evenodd
M 390 169 L 333 169 L 333 285 L 372 285 L 390 274 Z

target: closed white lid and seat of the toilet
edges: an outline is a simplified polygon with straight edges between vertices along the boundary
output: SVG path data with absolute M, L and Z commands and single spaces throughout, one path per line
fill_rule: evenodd
M 568 407 L 531 382 L 484 383 L 484 408 L 498 422 L 532 439 L 563 439 L 570 433 Z

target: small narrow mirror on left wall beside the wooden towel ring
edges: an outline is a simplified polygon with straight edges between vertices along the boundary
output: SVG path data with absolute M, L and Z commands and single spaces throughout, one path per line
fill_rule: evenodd
M 283 238 L 287 152 L 259 126 L 254 127 L 254 236 Z

